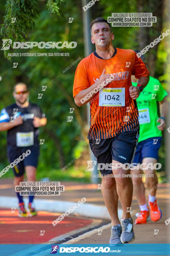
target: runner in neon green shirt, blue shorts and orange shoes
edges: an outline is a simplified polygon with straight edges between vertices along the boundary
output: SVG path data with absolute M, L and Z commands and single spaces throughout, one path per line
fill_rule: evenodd
M 136 53 L 138 52 L 139 51 L 136 51 Z M 142 56 L 141 59 L 145 63 L 144 56 Z M 132 85 L 137 86 L 137 79 L 132 76 L 131 80 Z M 139 111 L 140 136 L 136 147 L 134 163 L 143 164 L 140 168 L 146 169 L 131 170 L 134 193 L 137 196 L 140 207 L 140 214 L 138 214 L 135 224 L 145 224 L 149 219 L 145 187 L 142 178 L 138 176 L 143 174 L 143 171 L 145 175 L 148 175 L 148 177 L 146 177 L 146 183 L 149 189 L 147 193 L 149 195 L 151 220 L 159 221 L 162 217 L 162 212 L 156 200 L 158 177 L 154 168 L 158 167 L 158 164 L 156 165 L 158 161 L 158 150 L 160 148 L 162 131 L 165 128 L 165 116 L 168 111 L 167 95 L 167 92 L 158 79 L 150 77 L 149 83 L 136 99 Z M 160 118 L 158 117 L 157 102 L 159 102 Z

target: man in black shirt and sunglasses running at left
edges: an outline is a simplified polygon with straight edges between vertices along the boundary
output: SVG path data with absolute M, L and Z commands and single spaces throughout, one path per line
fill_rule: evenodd
M 23 182 L 26 172 L 27 181 L 36 181 L 36 168 L 39 157 L 39 129 L 47 123 L 47 118 L 40 107 L 28 102 L 29 91 L 24 83 L 14 86 L 13 96 L 16 103 L 1 110 L 0 131 L 7 131 L 7 152 L 10 163 L 14 165 L 14 186 Z M 26 155 L 25 155 L 26 154 Z M 24 157 L 25 156 L 25 157 Z M 23 197 L 17 193 L 19 199 L 19 216 L 27 217 Z M 29 195 L 29 216 L 37 214 L 33 206 L 33 195 Z

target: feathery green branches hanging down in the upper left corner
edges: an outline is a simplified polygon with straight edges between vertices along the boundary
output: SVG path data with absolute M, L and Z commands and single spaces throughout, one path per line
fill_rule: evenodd
M 47 8 L 50 14 L 60 16 L 61 10 L 58 6 L 65 3 L 63 0 L 48 0 Z M 1 24 L 1 35 L 3 39 L 11 39 L 12 41 L 25 42 L 28 33 L 35 27 L 34 18 L 40 16 L 37 5 L 37 0 L 7 0 L 6 15 L 4 16 L 4 23 Z M 16 18 L 12 22 L 12 18 Z M 4 51 L 5 57 L 11 60 L 8 56 L 10 51 Z

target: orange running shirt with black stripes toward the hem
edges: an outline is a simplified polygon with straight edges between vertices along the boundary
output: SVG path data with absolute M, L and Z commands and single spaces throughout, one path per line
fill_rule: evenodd
M 132 85 L 131 75 L 138 79 L 148 76 L 149 71 L 133 50 L 114 49 L 114 55 L 107 60 L 93 52 L 82 59 L 76 69 L 73 97 L 92 86 L 100 78 L 104 69 L 105 74 L 111 74 L 114 80 L 103 89 L 125 88 L 125 106 L 99 106 L 99 92 L 94 94 L 90 102 L 88 139 L 107 139 L 123 131 L 139 130 L 136 100 L 129 94 L 129 87 Z

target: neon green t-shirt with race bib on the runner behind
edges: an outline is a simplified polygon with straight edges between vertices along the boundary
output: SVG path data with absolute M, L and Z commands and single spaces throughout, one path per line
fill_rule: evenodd
M 137 83 L 132 83 L 132 85 L 137 86 Z M 162 132 L 157 128 L 160 123 L 156 122 L 158 119 L 157 101 L 162 101 L 167 95 L 159 80 L 150 77 L 149 83 L 136 99 L 140 123 L 138 142 L 162 136 Z

